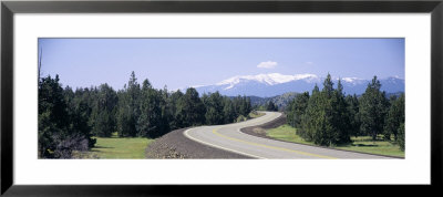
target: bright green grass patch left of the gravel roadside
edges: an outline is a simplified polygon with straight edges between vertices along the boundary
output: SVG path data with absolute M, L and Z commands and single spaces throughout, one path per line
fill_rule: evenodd
M 154 139 L 145 137 L 95 137 L 96 144 L 81 158 L 145 158 L 146 146 Z

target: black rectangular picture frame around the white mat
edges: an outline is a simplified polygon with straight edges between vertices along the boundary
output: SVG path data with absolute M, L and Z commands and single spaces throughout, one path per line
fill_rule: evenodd
M 1 195 L 4 196 L 165 196 L 196 195 L 202 186 L 185 185 L 82 185 L 82 186 L 22 186 L 13 183 L 13 20 L 14 13 L 238 13 L 238 12 L 327 12 L 327 13 L 431 13 L 431 185 L 394 186 L 398 189 L 437 190 L 442 186 L 443 131 L 443 0 L 292 0 L 292 1 L 2 1 L 1 2 Z M 373 185 L 372 185 L 373 186 Z M 370 186 L 370 187 L 372 187 Z M 392 186 L 392 185 L 391 185 Z M 222 188 L 220 188 L 222 187 Z M 229 188 L 226 188 L 229 187 Z M 279 194 L 300 186 L 203 186 L 205 193 L 234 193 L 234 189 Z M 308 187 L 303 190 L 323 190 Z M 329 191 L 347 188 L 329 186 Z M 377 190 L 362 187 L 365 194 Z M 385 186 L 381 186 L 385 187 Z M 401 187 L 401 188 L 398 188 Z M 395 191 L 396 190 L 396 191 Z M 362 193 L 362 191 L 360 191 Z

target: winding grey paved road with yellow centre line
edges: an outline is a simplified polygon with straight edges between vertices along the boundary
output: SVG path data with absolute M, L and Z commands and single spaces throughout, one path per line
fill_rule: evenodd
M 274 141 L 240 132 L 243 127 L 260 125 L 281 115 L 278 112 L 265 113 L 261 117 L 241 123 L 189 128 L 184 135 L 202 144 L 255 158 L 391 158 Z

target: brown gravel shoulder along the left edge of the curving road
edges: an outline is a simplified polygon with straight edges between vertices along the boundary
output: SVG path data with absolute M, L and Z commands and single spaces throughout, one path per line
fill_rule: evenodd
M 194 142 L 183 134 L 188 128 L 155 139 L 146 147 L 146 158 L 251 158 Z

